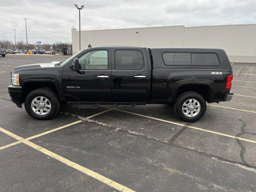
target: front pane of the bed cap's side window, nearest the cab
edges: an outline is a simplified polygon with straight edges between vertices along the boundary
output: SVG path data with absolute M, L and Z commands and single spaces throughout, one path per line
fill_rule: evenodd
M 165 65 L 191 65 L 190 53 L 163 53 Z

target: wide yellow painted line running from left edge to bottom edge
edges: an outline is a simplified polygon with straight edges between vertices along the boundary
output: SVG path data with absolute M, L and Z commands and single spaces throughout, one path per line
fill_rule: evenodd
M 12 133 L 12 132 L 9 132 L 8 130 L 3 129 L 2 127 L 0 127 L 0 131 L 9 135 L 9 136 L 11 136 L 11 137 L 13 137 L 13 138 L 15 138 L 15 139 L 17 139 L 18 141 L 20 141 L 20 142 L 22 142 L 26 145 L 34 148 L 35 150 L 38 150 L 38 151 L 40 151 L 40 152 L 42 152 L 42 153 L 44 153 L 44 154 L 46 154 L 46 155 L 48 155 L 48 156 L 50 156 L 54 159 L 56 159 L 56 160 L 58 160 L 58 161 L 60 161 L 64 164 L 66 164 L 66 165 L 68 165 L 68 166 L 70 166 L 70 167 L 88 175 L 88 176 L 91 176 L 94 179 L 99 180 L 100 182 L 103 182 L 103 183 L 107 184 L 108 186 L 111 186 L 112 188 L 115 188 L 116 190 L 119 190 L 121 192 L 134 192 L 134 190 L 131 190 L 130 188 L 128 188 L 128 187 L 126 187 L 122 184 L 119 184 L 119 183 L 117 183 L 117 182 L 115 182 L 115 181 L 113 181 L 113 180 L 111 180 L 111 179 L 109 179 L 109 178 L 107 178 L 107 177 L 105 177 L 101 174 L 98 174 L 98 173 L 96 173 L 96 172 L 94 172 L 94 171 L 92 171 L 92 170 L 90 170 L 86 167 L 83 167 L 83 166 L 81 166 L 81 165 L 79 165 L 75 162 L 72 162 L 72 161 L 70 161 L 70 160 L 68 160 L 68 159 L 66 159 L 66 158 L 64 158 L 64 157 L 62 157 L 62 156 L 60 156 L 60 155 L 58 155 L 54 152 L 51 152 L 51 151 L 49 151 L 45 148 L 42 148 L 41 146 L 39 146 L 37 144 L 34 144 L 34 143 L 32 143 L 28 140 L 25 140 L 24 138 Z

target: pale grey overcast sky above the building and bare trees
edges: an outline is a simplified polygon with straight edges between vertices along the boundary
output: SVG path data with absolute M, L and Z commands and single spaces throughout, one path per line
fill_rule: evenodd
M 256 24 L 256 0 L 0 0 L 0 39 L 71 42 L 81 30 L 149 26 Z

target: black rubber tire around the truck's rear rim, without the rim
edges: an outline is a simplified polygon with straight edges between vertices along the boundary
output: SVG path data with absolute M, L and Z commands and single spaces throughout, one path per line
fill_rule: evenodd
M 193 117 L 186 116 L 182 111 L 182 106 L 184 102 L 186 102 L 186 100 L 189 100 L 189 99 L 196 99 L 200 103 L 200 111 L 198 112 L 198 114 L 196 114 Z M 186 122 L 195 122 L 196 120 L 199 120 L 200 118 L 202 118 L 202 116 L 204 116 L 205 112 L 206 112 L 206 101 L 202 97 L 202 95 L 196 92 L 192 92 L 192 91 L 183 92 L 176 98 L 176 101 L 174 103 L 174 113 L 178 116 L 178 118 Z

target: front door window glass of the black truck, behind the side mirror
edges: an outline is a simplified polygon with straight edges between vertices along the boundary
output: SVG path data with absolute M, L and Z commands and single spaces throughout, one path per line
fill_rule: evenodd
M 106 50 L 94 50 L 80 56 L 81 70 L 104 70 L 108 69 L 108 52 Z

